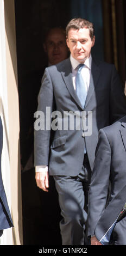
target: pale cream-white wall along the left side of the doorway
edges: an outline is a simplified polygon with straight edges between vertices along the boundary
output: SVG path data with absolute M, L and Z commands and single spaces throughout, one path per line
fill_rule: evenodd
M 14 228 L 1 245 L 22 244 L 20 122 L 14 0 L 0 0 L 0 114 L 3 123 L 2 176 Z

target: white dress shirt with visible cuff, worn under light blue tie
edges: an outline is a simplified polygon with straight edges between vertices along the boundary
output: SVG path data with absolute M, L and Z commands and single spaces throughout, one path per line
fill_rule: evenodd
M 70 56 L 70 61 L 72 65 L 72 79 L 73 79 L 73 87 L 75 89 L 75 76 L 78 72 L 78 65 L 80 64 L 78 60 L 74 59 L 72 55 Z M 84 64 L 85 66 L 81 69 L 81 76 L 84 79 L 84 84 L 86 86 L 86 92 L 89 90 L 89 84 L 90 84 L 90 76 L 91 76 L 91 63 L 92 63 L 92 57 L 90 54 L 90 57 L 85 60 Z M 48 166 L 35 166 L 35 172 L 48 172 Z

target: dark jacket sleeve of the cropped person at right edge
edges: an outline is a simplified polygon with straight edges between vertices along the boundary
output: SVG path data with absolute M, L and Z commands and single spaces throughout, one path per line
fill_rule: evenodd
M 110 144 L 104 130 L 100 129 L 89 191 L 88 236 L 95 234 L 96 225 L 105 210 L 109 190 L 110 166 Z

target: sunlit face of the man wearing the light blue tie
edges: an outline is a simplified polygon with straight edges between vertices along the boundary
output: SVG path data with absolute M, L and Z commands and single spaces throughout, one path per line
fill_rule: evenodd
M 95 36 L 91 40 L 89 28 L 81 28 L 79 30 L 71 28 L 68 31 L 67 46 L 70 48 L 72 57 L 80 63 L 90 57 L 91 48 L 95 44 Z

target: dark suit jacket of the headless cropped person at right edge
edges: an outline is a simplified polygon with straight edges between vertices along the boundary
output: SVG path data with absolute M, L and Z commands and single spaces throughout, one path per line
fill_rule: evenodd
M 89 191 L 88 235 L 106 245 L 126 202 L 126 116 L 99 131 Z M 110 192 L 108 197 L 110 182 Z M 114 224 L 114 225 L 113 225 Z

